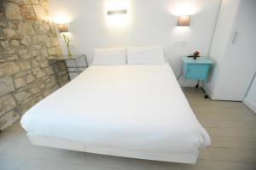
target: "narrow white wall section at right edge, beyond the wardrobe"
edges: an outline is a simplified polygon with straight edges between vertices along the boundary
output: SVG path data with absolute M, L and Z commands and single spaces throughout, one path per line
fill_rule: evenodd
M 243 102 L 256 113 L 256 74 Z

